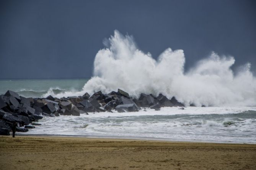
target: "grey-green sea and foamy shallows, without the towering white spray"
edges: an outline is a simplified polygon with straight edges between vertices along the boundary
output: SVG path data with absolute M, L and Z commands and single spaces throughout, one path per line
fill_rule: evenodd
M 83 91 L 89 79 L 1 79 L 0 94 L 60 96 Z M 44 117 L 42 125 L 18 135 L 128 138 L 214 143 L 256 143 L 255 106 L 161 107 L 139 112 L 116 111 L 80 116 Z

